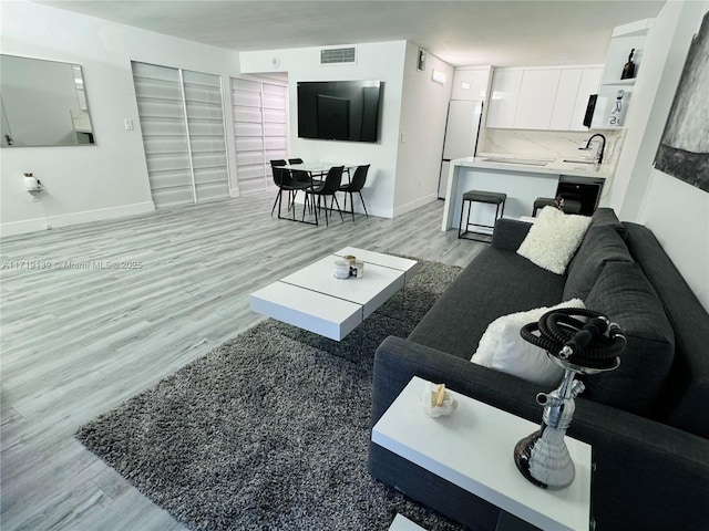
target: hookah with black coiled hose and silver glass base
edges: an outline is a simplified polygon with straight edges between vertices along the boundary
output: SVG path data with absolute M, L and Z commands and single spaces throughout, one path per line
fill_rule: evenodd
M 537 404 L 544 406 L 542 426 L 515 445 L 514 461 L 520 472 L 537 487 L 563 489 L 574 481 L 576 473 L 564 442 L 576 408 L 574 398 L 584 391 L 583 382 L 574 377 L 617 368 L 627 340 L 608 317 L 575 308 L 552 310 L 538 323 L 523 326 L 520 334 L 544 348 L 565 372 L 555 391 L 536 396 Z

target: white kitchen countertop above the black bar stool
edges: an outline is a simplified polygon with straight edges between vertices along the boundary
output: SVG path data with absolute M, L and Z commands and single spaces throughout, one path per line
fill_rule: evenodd
M 491 158 L 508 159 L 518 162 L 489 160 Z M 483 169 L 501 169 L 505 171 L 532 171 L 536 174 L 549 175 L 568 175 L 574 177 L 594 177 L 598 179 L 608 179 L 613 177 L 614 168 L 606 164 L 587 164 L 587 163 L 565 163 L 563 158 L 551 160 L 548 164 L 541 165 L 541 160 L 535 157 L 505 156 L 505 155 L 483 155 L 479 157 L 465 157 L 451 160 L 451 165 L 463 166 L 470 168 Z

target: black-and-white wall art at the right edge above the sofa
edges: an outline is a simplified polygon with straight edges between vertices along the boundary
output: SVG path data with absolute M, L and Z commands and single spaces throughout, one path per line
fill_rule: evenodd
M 709 191 L 709 12 L 689 48 L 655 167 Z

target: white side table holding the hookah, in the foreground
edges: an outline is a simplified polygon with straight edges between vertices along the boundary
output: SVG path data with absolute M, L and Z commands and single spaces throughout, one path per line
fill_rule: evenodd
M 574 482 L 563 490 L 541 489 L 520 473 L 513 459 L 515 444 L 538 424 L 458 393 L 453 415 L 429 417 L 420 403 L 424 384 L 419 377 L 411 379 L 372 428 L 373 442 L 540 529 L 588 529 L 589 445 L 566 437 L 576 468 Z

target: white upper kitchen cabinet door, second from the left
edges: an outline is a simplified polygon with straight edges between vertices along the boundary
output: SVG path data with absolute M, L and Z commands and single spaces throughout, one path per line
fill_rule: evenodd
M 561 69 L 524 71 L 514 115 L 515 129 L 549 128 L 561 75 Z

